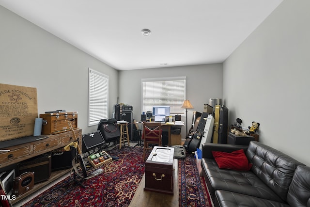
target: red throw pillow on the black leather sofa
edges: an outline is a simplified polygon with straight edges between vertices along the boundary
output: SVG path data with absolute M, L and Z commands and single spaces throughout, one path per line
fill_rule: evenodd
M 252 167 L 252 163 L 248 163 L 248 158 L 243 149 L 232 153 L 212 151 L 212 154 L 220 169 L 248 171 Z

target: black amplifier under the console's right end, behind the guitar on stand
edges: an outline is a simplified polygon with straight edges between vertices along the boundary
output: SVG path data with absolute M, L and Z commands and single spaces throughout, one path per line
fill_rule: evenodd
M 52 171 L 64 170 L 72 167 L 72 151 L 63 148 L 52 151 Z

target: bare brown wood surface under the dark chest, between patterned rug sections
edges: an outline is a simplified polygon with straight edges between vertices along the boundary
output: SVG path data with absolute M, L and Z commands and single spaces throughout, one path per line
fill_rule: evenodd
M 159 192 L 144 191 L 145 174 L 143 175 L 139 187 L 132 198 L 129 207 L 178 207 L 179 198 L 179 177 L 178 159 L 174 159 L 174 186 L 173 195 Z

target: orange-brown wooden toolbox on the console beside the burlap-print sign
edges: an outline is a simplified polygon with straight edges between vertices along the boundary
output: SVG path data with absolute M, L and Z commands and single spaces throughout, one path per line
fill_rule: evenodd
M 42 134 L 58 134 L 70 130 L 70 124 L 73 129 L 78 128 L 78 112 L 59 112 L 43 113 Z

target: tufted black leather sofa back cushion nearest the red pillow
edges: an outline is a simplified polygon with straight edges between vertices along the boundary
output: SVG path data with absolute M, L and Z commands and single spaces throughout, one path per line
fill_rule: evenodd
M 265 144 L 251 141 L 246 152 L 253 164 L 251 171 L 257 175 L 272 191 L 286 201 L 297 165 L 304 165 L 288 155 Z

